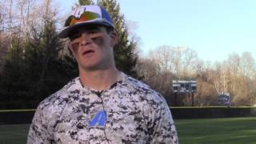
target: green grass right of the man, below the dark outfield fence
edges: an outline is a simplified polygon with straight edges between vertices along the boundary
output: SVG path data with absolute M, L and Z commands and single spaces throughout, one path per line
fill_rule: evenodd
M 180 143 L 256 143 L 256 118 L 175 121 Z

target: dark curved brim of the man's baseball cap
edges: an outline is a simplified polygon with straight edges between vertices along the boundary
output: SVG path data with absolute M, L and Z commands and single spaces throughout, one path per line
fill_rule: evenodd
M 110 27 L 114 28 L 114 26 L 110 25 L 108 22 L 102 22 L 102 21 L 81 22 L 81 23 L 77 23 L 73 26 L 66 27 L 64 30 L 62 30 L 62 32 L 60 34 L 58 34 L 58 37 L 59 38 L 69 38 L 72 31 L 74 31 L 75 29 L 77 29 L 80 26 L 88 26 L 88 25 L 110 26 Z

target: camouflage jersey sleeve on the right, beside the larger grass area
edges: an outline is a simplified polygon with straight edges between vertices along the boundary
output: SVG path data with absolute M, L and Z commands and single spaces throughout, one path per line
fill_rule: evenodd
M 162 96 L 160 96 L 162 98 Z M 178 134 L 170 108 L 164 98 L 155 103 L 150 114 L 150 143 L 178 144 Z

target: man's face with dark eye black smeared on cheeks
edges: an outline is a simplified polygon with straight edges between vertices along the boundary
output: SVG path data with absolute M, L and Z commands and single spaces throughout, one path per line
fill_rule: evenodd
M 105 70 L 114 64 L 113 46 L 117 41 L 114 31 L 104 26 L 81 27 L 70 35 L 70 50 L 83 70 Z

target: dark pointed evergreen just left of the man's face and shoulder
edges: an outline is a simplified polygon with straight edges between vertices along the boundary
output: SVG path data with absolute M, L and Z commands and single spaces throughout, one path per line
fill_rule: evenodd
M 58 38 L 55 23 L 46 21 L 38 38 L 30 42 L 27 54 L 27 62 L 30 63 L 30 70 L 34 69 L 34 94 L 38 95 L 38 102 L 50 94 L 59 90 L 71 78 L 77 76 L 73 65 L 70 65 L 70 58 L 59 57 L 60 50 L 63 50 L 62 43 Z M 72 62 L 71 62 L 72 63 Z M 72 63 L 73 64 L 73 63 Z M 74 74 L 75 73 L 75 74 Z

